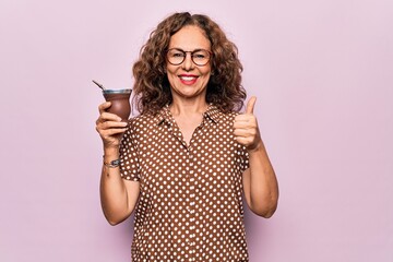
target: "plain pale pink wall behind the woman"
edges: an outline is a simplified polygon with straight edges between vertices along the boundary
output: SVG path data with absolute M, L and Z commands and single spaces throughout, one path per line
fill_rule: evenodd
M 103 102 L 174 11 L 216 20 L 281 186 L 247 213 L 251 261 L 393 261 L 393 1 L 1 0 L 0 261 L 130 260 L 100 211 Z

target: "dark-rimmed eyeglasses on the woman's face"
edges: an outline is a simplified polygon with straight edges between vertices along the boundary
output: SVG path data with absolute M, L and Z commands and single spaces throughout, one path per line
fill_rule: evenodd
M 188 52 L 191 55 L 192 62 L 199 67 L 207 64 L 212 57 L 212 52 L 204 49 L 183 51 L 178 48 L 171 48 L 167 51 L 167 60 L 170 64 L 179 66 L 186 60 Z

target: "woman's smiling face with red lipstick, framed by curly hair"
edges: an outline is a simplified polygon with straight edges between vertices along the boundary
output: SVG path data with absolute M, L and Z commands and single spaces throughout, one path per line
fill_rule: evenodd
M 167 76 L 174 98 L 196 98 L 206 96 L 206 86 L 211 75 L 211 61 L 205 66 L 196 66 L 191 59 L 191 52 L 198 50 L 211 51 L 211 43 L 203 31 L 194 25 L 188 25 L 170 37 L 169 47 L 176 49 L 172 59 L 181 57 L 186 51 L 186 59 L 178 66 L 169 63 L 167 59 Z M 180 51 L 179 51 L 180 50 Z M 203 52 L 203 51 L 202 51 Z M 203 55 L 203 53 L 202 53 Z M 194 60 L 202 59 L 199 52 L 194 52 Z M 181 61 L 181 58 L 180 58 Z

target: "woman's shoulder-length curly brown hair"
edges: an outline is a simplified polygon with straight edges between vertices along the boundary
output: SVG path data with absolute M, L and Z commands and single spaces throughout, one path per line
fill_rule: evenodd
M 243 106 L 246 90 L 241 85 L 242 66 L 238 49 L 221 27 L 209 16 L 189 12 L 175 13 L 160 22 L 141 48 L 133 66 L 134 102 L 141 114 L 156 114 L 172 100 L 166 74 L 166 51 L 170 37 L 187 25 L 199 26 L 212 45 L 212 74 L 207 83 L 206 102 L 221 110 L 238 111 Z

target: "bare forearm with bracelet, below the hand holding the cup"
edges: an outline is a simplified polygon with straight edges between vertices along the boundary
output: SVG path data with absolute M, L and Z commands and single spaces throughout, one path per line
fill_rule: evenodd
M 118 158 L 118 150 L 105 151 L 105 163 Z M 104 215 L 111 225 L 116 225 L 129 216 L 127 189 L 124 181 L 120 176 L 119 167 L 109 168 L 103 165 L 100 177 L 100 202 Z

